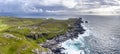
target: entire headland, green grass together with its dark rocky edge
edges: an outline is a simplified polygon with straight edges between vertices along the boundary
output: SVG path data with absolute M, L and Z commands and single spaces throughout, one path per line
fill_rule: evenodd
M 58 45 L 84 33 L 82 18 L 0 17 L 0 54 L 57 54 Z

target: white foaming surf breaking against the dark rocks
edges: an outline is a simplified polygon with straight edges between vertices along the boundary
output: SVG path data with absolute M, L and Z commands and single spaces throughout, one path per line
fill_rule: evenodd
M 90 54 L 89 46 L 86 43 L 85 37 L 88 37 L 92 32 L 82 24 L 83 28 L 86 30 L 84 34 L 78 34 L 78 38 L 69 39 L 61 44 L 65 49 L 62 53 L 65 54 Z

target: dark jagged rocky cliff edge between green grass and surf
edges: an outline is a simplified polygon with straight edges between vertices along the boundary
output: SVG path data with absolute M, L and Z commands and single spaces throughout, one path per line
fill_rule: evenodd
M 78 34 L 83 34 L 85 32 L 85 29 L 82 27 L 81 23 L 83 23 L 82 18 L 77 19 L 72 29 L 63 35 L 57 35 L 57 37 L 47 40 L 44 44 L 42 44 L 42 46 L 49 48 L 52 51 L 52 53 L 50 52 L 49 54 L 61 54 L 61 49 L 64 48 L 59 46 L 60 43 L 68 39 L 77 38 Z

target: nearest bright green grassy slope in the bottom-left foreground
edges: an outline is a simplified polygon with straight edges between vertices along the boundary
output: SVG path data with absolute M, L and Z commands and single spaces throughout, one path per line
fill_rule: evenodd
M 33 54 L 31 50 L 39 48 L 35 42 L 28 42 L 26 40 L 6 39 L 0 37 L 0 54 Z

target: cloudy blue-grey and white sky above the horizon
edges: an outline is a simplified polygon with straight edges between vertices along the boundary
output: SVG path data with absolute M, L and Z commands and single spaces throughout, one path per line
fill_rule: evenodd
M 119 14 L 120 0 L 0 0 L 0 16 Z

